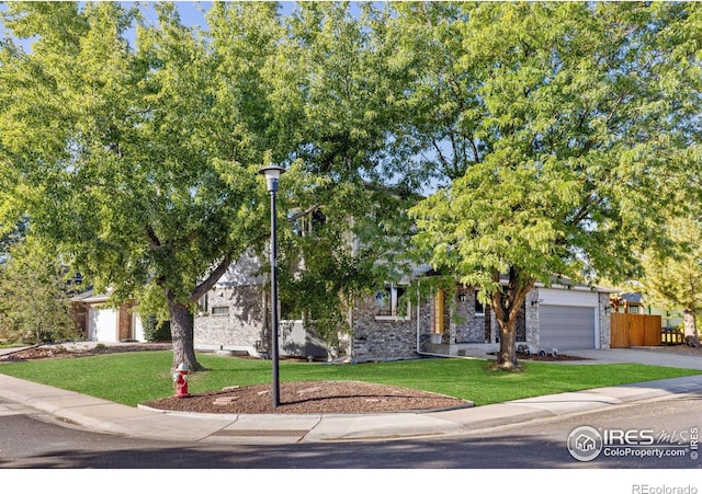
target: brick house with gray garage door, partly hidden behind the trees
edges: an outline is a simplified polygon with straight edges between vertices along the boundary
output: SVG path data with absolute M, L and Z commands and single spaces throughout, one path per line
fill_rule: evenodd
M 194 319 L 196 349 L 269 353 L 270 295 L 268 277 L 258 274 L 260 267 L 253 256 L 244 257 L 203 297 Z M 428 266 L 412 274 L 420 283 L 430 275 Z M 404 297 L 408 289 L 408 283 L 388 284 L 374 296 L 356 299 L 348 314 L 352 333 L 341 336 L 338 348 L 327 348 L 305 331 L 301 319 L 281 307 L 280 355 L 369 361 L 499 349 L 497 322 L 475 289 L 458 287 L 455 300 L 439 291 L 415 307 Z M 578 285 L 535 286 L 518 321 L 518 344 L 546 352 L 609 348 L 610 291 Z

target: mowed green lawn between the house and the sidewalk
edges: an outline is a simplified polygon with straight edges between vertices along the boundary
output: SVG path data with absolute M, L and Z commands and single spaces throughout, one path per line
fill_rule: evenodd
M 189 391 L 271 382 L 271 361 L 199 354 L 206 371 L 191 376 Z M 117 403 L 136 405 L 173 394 L 172 353 L 139 352 L 0 364 L 0 374 Z M 281 381 L 356 380 L 416 388 L 473 401 L 476 405 L 520 398 L 702 374 L 637 364 L 559 365 L 523 363 L 522 372 L 487 369 L 485 360 L 422 359 L 324 365 L 281 361 Z

